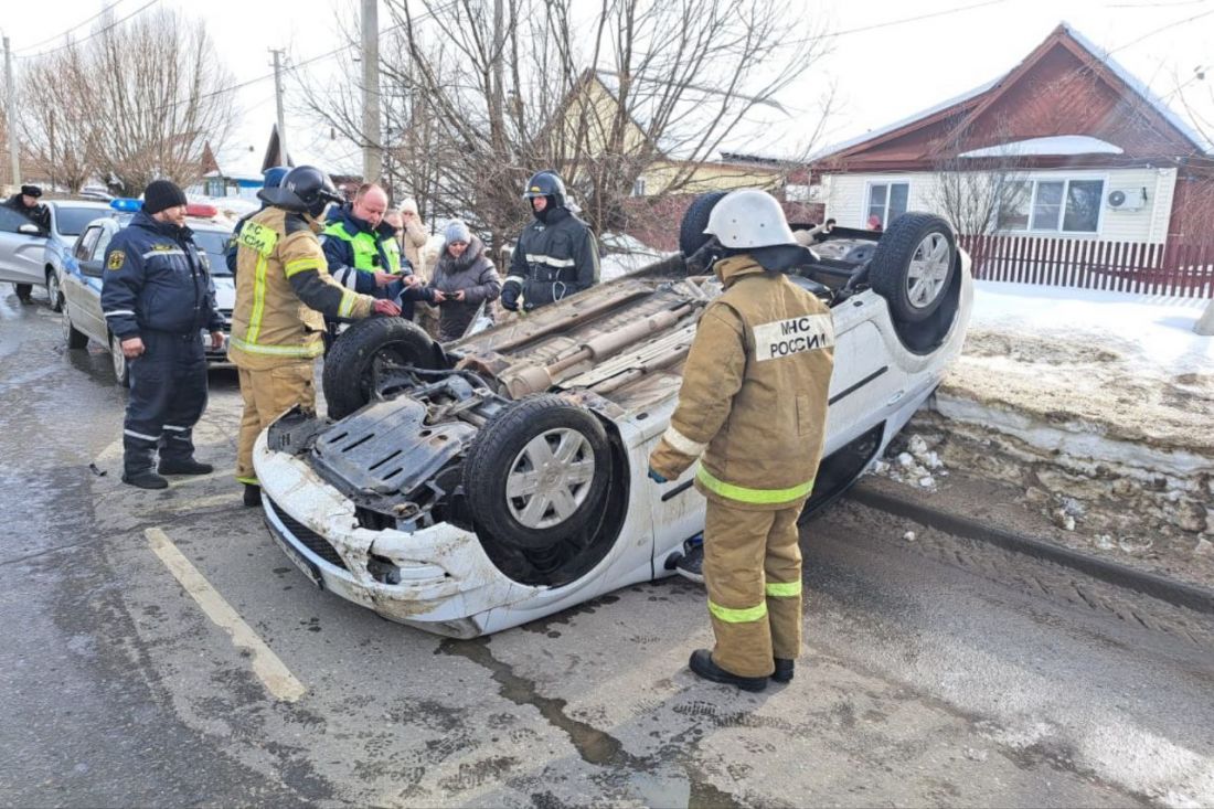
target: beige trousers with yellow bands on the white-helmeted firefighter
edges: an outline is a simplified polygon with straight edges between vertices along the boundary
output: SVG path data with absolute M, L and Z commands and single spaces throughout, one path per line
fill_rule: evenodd
M 716 647 L 713 662 L 739 677 L 767 677 L 773 657 L 801 651 L 801 548 L 794 507 L 758 511 L 708 500 L 704 584 Z

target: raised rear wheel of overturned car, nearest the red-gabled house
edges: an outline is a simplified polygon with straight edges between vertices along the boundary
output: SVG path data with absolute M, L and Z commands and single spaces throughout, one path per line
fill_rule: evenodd
M 935 214 L 903 214 L 881 234 L 868 266 L 869 283 L 896 322 L 925 321 L 940 309 L 957 272 L 953 228 Z

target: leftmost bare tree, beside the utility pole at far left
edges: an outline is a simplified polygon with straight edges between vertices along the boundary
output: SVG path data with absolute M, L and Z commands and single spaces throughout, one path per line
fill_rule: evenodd
M 34 176 L 73 192 L 92 174 L 89 147 L 106 123 L 90 118 L 86 75 L 80 47 L 69 45 L 28 64 L 21 78 L 23 160 Z

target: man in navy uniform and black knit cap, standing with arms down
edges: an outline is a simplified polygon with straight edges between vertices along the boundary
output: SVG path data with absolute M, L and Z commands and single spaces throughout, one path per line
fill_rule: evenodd
M 206 254 L 185 222 L 186 194 L 157 180 L 143 193 L 143 209 L 106 253 L 101 309 L 131 368 L 123 482 L 140 488 L 168 487 L 160 475 L 212 469 L 194 460 L 193 429 L 206 408 L 202 330 L 219 350 L 223 318 Z

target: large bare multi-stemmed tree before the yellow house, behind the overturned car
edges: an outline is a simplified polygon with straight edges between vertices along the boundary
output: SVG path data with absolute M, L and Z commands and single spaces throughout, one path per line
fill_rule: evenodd
M 600 232 L 626 225 L 642 176 L 654 202 L 694 191 L 826 41 L 784 0 L 386 2 L 391 182 L 499 244 L 526 221 L 520 189 L 538 169 L 562 172 Z M 363 143 L 361 90 L 302 81 L 311 112 Z

